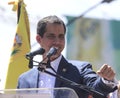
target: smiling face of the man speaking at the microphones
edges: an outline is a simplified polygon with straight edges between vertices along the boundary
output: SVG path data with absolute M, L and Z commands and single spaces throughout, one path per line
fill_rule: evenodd
M 51 47 L 56 47 L 57 53 L 51 57 L 52 60 L 60 56 L 65 46 L 64 27 L 61 24 L 47 24 L 43 37 L 39 36 L 38 43 L 45 49 L 44 57 Z

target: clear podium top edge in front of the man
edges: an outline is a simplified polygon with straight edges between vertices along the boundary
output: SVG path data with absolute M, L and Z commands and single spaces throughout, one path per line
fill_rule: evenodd
M 0 90 L 0 98 L 78 98 L 70 88 L 29 88 Z

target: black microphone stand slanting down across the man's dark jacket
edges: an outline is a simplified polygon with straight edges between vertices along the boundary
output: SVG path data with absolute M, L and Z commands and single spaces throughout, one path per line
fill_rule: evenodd
M 73 82 L 73 81 L 71 81 L 71 80 L 68 80 L 68 79 L 64 78 L 63 76 L 58 75 L 57 72 L 54 70 L 54 68 L 52 68 L 52 66 L 50 65 L 50 57 L 48 57 L 47 63 L 46 63 L 46 64 L 43 63 L 43 64 L 46 65 L 46 67 L 51 68 L 56 74 L 51 73 L 51 72 L 45 70 L 46 67 L 41 67 L 40 65 L 42 65 L 42 62 L 39 63 L 39 67 L 38 67 L 38 70 L 39 70 L 39 71 L 45 72 L 45 73 L 47 73 L 47 74 L 49 74 L 49 75 L 52 75 L 52 76 L 60 79 L 61 81 L 65 82 L 65 83 L 67 83 L 67 84 L 69 84 L 69 85 L 71 85 L 71 86 L 74 86 L 74 87 L 80 88 L 80 89 L 82 89 L 82 90 L 85 90 L 85 91 L 87 91 L 90 95 L 92 95 L 93 98 L 107 98 L 104 94 L 102 94 L 102 93 L 94 90 L 94 89 L 91 88 L 91 87 L 88 87 L 88 86 L 85 86 L 85 85 L 82 85 L 82 84 L 77 84 L 77 83 L 75 83 L 75 82 Z

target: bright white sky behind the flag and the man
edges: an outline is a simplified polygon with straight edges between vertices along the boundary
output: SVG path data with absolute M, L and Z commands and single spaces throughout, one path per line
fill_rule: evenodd
M 4 88 L 13 39 L 16 32 L 16 12 L 12 11 L 11 0 L 0 0 L 0 89 Z M 67 23 L 66 15 L 80 16 L 101 0 L 24 0 L 30 21 L 32 49 L 35 43 L 36 23 L 47 15 L 57 15 Z M 120 20 L 120 0 L 98 5 L 85 17 Z

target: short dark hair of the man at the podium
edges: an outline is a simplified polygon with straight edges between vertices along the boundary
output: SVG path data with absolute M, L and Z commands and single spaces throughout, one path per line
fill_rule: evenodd
M 62 24 L 64 27 L 64 32 L 66 32 L 65 23 L 57 16 L 47 16 L 41 19 L 37 24 L 37 34 L 43 37 L 44 33 L 46 32 L 46 26 L 48 23 L 55 23 L 55 24 Z

